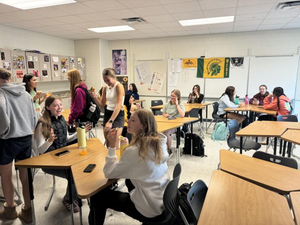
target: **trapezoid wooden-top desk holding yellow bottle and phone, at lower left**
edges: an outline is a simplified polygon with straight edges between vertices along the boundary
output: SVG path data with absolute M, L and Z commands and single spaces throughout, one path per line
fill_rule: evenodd
M 33 224 L 35 223 L 34 216 L 34 204 L 33 204 L 33 184 L 32 184 L 32 175 L 31 168 L 56 168 L 56 169 L 66 169 L 67 170 L 67 181 L 68 181 L 68 191 L 70 198 L 70 213 L 71 213 L 71 224 L 74 224 L 73 219 L 73 206 L 72 206 L 72 190 L 71 190 L 71 165 L 83 161 L 87 158 L 93 157 L 101 152 L 107 151 L 107 148 L 101 143 L 98 138 L 91 138 L 86 140 L 87 153 L 86 155 L 79 155 L 79 150 L 77 143 L 65 146 L 50 152 L 46 152 L 31 158 L 27 158 L 15 163 L 16 167 L 27 168 L 28 173 L 28 184 L 29 184 L 29 193 L 32 205 L 32 218 Z M 55 153 L 69 150 L 68 154 L 61 156 L 55 156 Z

